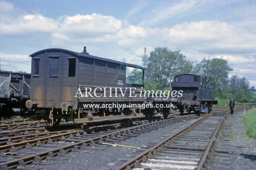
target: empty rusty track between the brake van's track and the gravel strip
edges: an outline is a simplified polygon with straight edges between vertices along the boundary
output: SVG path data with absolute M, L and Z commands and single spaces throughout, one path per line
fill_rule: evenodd
M 35 163 L 41 159 L 54 159 L 69 151 L 88 152 L 89 146 L 102 146 L 104 143 L 114 143 L 135 137 L 141 133 L 150 132 L 175 121 L 191 119 L 196 115 L 184 115 L 176 118 L 144 123 L 134 127 L 107 130 L 87 134 L 84 130 L 60 133 L 32 140 L 0 146 L 1 168 L 17 168 L 25 164 Z M 105 146 L 105 145 L 104 145 Z M 18 167 L 19 168 L 19 167 Z

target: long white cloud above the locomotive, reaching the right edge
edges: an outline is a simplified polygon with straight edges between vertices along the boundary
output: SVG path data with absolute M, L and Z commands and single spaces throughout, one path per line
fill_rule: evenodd
M 225 21 L 193 21 L 165 28 L 162 37 L 191 47 L 252 47 L 256 35 Z

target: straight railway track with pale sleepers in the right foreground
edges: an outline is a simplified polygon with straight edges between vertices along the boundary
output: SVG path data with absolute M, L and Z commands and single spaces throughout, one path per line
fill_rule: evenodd
M 117 169 L 204 169 L 215 137 L 227 115 L 225 109 L 218 114 L 208 114 L 126 161 Z

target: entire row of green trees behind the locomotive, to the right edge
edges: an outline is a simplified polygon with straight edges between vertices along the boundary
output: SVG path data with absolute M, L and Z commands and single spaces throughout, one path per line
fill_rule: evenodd
M 171 89 L 171 82 L 178 74 L 197 74 L 207 77 L 207 86 L 213 96 L 219 99 L 231 99 L 236 102 L 256 102 L 253 90 L 249 89 L 249 81 L 238 75 L 228 77 L 233 69 L 223 58 L 204 58 L 201 62 L 192 62 L 180 51 L 171 51 L 167 47 L 157 47 L 144 59 L 145 89 Z

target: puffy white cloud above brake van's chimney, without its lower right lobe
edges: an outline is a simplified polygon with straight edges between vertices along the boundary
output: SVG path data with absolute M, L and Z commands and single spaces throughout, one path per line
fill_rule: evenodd
M 121 20 L 100 14 L 62 16 L 59 28 L 52 32 L 54 45 L 66 43 L 109 43 L 121 39 Z

